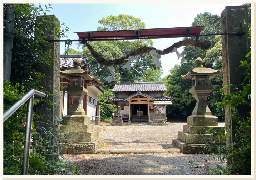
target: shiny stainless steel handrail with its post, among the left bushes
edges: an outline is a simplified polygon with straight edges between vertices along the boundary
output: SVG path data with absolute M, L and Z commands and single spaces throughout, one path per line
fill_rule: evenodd
M 33 117 L 33 106 L 34 106 L 34 95 L 46 99 L 47 94 L 40 92 L 35 89 L 29 90 L 21 99 L 15 102 L 11 107 L 4 112 L 4 122 L 8 119 L 20 106 L 22 106 L 28 100 L 27 115 L 26 115 L 26 127 L 25 127 L 25 138 L 23 147 L 23 162 L 22 162 L 22 173 L 29 174 L 29 150 L 30 150 L 30 139 L 32 130 L 32 117 Z

